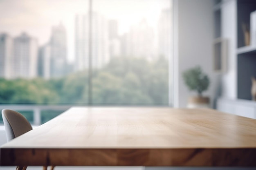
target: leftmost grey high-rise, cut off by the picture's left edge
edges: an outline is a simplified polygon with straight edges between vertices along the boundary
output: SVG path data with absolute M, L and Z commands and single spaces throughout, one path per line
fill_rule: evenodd
M 12 57 L 12 38 L 6 34 L 0 34 L 0 77 L 10 78 Z

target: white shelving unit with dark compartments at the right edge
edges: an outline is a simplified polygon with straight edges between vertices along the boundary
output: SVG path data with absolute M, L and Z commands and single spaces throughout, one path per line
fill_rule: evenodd
M 256 45 L 245 46 L 242 25 L 250 26 L 250 14 L 256 10 L 256 0 L 216 1 L 214 16 L 220 14 L 216 33 L 228 40 L 227 72 L 221 75 L 220 111 L 256 119 L 256 102 L 251 97 L 251 77 L 256 77 Z

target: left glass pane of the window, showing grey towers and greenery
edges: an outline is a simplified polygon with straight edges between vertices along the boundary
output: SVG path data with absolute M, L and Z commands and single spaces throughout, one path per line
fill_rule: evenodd
M 88 2 L 0 0 L 0 104 L 87 104 Z

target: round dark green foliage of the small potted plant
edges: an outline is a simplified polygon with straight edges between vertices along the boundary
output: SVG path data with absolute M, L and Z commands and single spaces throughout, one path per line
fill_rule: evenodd
M 210 84 L 208 76 L 202 72 L 200 66 L 184 71 L 183 79 L 189 90 L 197 91 L 198 96 L 202 96 L 202 92 L 206 91 Z

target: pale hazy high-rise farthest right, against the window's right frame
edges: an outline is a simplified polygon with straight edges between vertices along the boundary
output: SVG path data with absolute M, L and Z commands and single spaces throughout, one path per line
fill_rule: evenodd
M 171 55 L 171 10 L 162 10 L 158 20 L 158 50 L 167 60 Z

